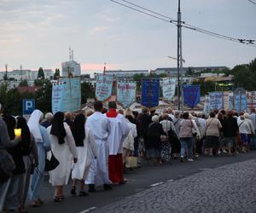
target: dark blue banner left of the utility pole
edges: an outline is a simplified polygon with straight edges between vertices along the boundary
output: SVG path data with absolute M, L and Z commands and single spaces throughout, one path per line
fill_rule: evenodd
M 144 107 L 158 107 L 159 104 L 159 79 L 144 79 L 142 90 L 142 105 Z

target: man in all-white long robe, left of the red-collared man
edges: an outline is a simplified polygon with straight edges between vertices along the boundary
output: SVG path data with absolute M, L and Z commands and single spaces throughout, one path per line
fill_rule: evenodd
M 105 190 L 111 189 L 108 177 L 108 119 L 102 114 L 102 101 L 94 104 L 95 112 L 87 118 L 86 129 L 92 131 L 96 141 L 96 159 L 90 164 L 90 170 L 85 184 L 89 186 L 89 192 L 95 192 L 95 185 L 103 185 Z

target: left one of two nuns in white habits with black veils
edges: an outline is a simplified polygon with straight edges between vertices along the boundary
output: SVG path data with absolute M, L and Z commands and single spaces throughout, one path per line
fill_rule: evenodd
M 77 163 L 78 154 L 71 130 L 64 123 L 63 112 L 55 113 L 52 125 L 47 130 L 52 153 L 60 163 L 55 170 L 49 171 L 49 181 L 55 187 L 55 202 L 61 202 L 64 199 L 63 186 L 67 185 L 72 162 Z

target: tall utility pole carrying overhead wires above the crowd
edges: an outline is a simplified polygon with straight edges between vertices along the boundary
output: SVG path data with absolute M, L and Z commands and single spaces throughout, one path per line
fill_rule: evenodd
M 177 5 L 177 110 L 180 110 L 180 64 L 181 64 L 181 12 L 180 12 L 180 0 Z

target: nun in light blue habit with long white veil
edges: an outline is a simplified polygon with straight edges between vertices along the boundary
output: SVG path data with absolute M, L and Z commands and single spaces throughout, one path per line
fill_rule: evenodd
M 32 112 L 27 122 L 27 126 L 38 149 L 38 168 L 31 177 L 28 191 L 28 199 L 32 200 L 32 207 L 38 207 L 43 204 L 43 201 L 40 199 L 40 193 L 44 184 L 45 156 L 50 150 L 49 134 L 44 126 L 40 125 L 42 119 L 43 112 L 36 109 Z

